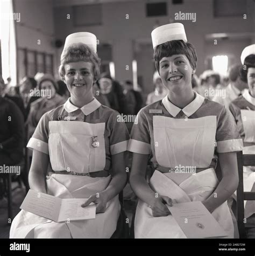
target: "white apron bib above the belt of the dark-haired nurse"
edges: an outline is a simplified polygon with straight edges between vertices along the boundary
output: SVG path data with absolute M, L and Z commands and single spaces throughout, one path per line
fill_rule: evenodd
M 174 119 L 153 116 L 155 157 L 162 167 L 209 167 L 214 156 L 216 116 Z

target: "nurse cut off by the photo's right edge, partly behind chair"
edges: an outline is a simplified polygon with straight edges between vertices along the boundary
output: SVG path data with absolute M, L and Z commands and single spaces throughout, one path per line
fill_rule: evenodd
M 240 72 L 249 89 L 230 103 L 229 109 L 235 117 L 237 127 L 244 141 L 243 154 L 255 154 L 255 44 L 245 47 L 241 54 L 244 68 Z M 244 191 L 255 191 L 255 169 L 244 167 Z M 246 201 L 244 217 L 246 218 L 247 237 L 255 238 L 255 202 Z

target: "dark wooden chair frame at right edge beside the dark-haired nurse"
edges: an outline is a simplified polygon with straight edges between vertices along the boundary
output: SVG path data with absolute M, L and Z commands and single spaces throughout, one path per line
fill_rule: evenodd
M 244 192 L 243 167 L 255 165 L 255 155 L 243 155 L 240 151 L 237 153 L 239 184 L 237 188 L 237 225 L 239 237 L 246 238 L 244 222 L 244 200 L 255 200 L 255 192 Z

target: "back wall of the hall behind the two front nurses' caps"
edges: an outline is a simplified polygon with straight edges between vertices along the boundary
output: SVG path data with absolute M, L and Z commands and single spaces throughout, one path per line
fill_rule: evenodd
M 80 4 L 79 1 L 74 1 L 74 4 Z M 131 66 L 131 61 L 134 57 L 133 42 L 139 39 L 151 40 L 152 28 L 158 20 L 160 25 L 169 23 L 169 20 L 174 21 L 174 13 L 176 12 L 195 12 L 196 22 L 191 20 L 180 20 L 185 25 L 187 38 L 190 43 L 194 44 L 199 56 L 197 73 L 200 74 L 204 70 L 204 61 L 208 53 L 211 53 L 213 40 L 208 43 L 205 40 L 206 34 L 210 33 L 239 33 L 239 32 L 254 32 L 254 3 L 252 0 L 244 0 L 247 3 L 247 19 L 243 17 L 224 17 L 214 18 L 213 1 L 212 0 L 185 0 L 182 5 L 173 5 L 172 1 L 168 2 L 168 16 L 166 17 L 150 17 L 145 15 L 145 4 L 148 1 L 141 0 L 136 2 L 120 2 L 120 3 L 105 3 L 102 4 L 103 25 L 97 26 L 73 26 L 72 6 L 61 6 L 61 2 L 55 2 L 54 20 L 56 37 L 65 40 L 69 33 L 78 31 L 88 31 L 96 34 L 97 38 L 102 41 L 111 41 L 113 49 L 113 60 L 116 67 L 116 78 L 120 80 L 132 79 L 132 70 L 125 70 L 126 65 Z M 157 2 L 157 1 L 151 1 Z M 65 3 L 67 4 L 67 3 Z M 70 3 L 72 4 L 72 3 Z M 198 8 L 199 6 L 199 8 Z M 67 13 L 71 14 L 71 19 L 67 19 Z M 126 19 L 126 14 L 129 19 Z M 176 20 L 177 21 L 177 20 Z M 239 56 L 240 47 L 235 47 L 235 41 L 231 42 L 231 54 Z M 228 49 L 228 44 L 225 45 Z M 152 47 L 152 46 L 151 46 Z M 243 47 L 243 46 L 242 46 Z M 143 49 L 141 50 L 143 51 Z M 150 52 L 147 51 L 146 52 Z M 153 51 L 150 53 L 151 57 Z M 143 53 L 141 53 L 143 55 Z M 147 65 L 147 58 L 140 58 L 138 63 L 138 75 L 145 76 L 144 81 L 151 79 L 153 68 L 149 68 L 148 73 L 144 74 L 139 67 Z M 150 86 L 150 89 L 152 86 Z M 146 90 L 147 91 L 147 90 Z

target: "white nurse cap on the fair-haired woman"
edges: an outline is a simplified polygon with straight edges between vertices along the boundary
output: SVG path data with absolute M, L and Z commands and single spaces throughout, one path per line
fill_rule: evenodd
M 73 34 L 69 34 L 67 36 L 66 41 L 65 41 L 65 46 L 64 50 L 72 44 L 79 44 L 83 43 L 88 45 L 88 47 L 96 52 L 96 36 L 93 33 L 89 32 L 77 32 Z

